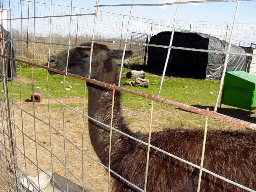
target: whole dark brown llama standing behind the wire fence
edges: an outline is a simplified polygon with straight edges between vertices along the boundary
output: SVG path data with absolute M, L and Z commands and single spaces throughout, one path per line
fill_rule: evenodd
M 81 46 L 91 46 L 90 42 Z M 67 51 L 50 57 L 50 67 L 66 70 Z M 114 59 L 121 59 L 123 50 L 112 50 L 104 44 L 94 43 L 91 78 L 109 84 L 118 83 Z M 126 50 L 124 59 L 132 56 Z M 90 48 L 77 47 L 70 50 L 68 72 L 88 76 Z M 49 71 L 50 74 L 55 74 Z M 112 90 L 88 83 L 88 115 L 105 124 L 110 123 Z M 114 100 L 113 127 L 147 142 L 148 135 L 129 130 L 122 116 L 120 92 Z M 90 139 L 101 162 L 108 166 L 110 130 L 89 120 Z M 152 132 L 151 144 L 200 164 L 204 130 L 170 128 Z M 118 132 L 112 133 L 111 169 L 140 188 L 144 188 L 147 146 Z M 208 130 L 204 168 L 256 190 L 256 132 L 252 130 Z M 148 192 L 196 192 L 199 170 L 157 150 L 150 149 L 148 167 Z M 113 176 L 115 192 L 137 191 L 126 182 Z M 244 192 L 232 184 L 203 172 L 202 192 Z

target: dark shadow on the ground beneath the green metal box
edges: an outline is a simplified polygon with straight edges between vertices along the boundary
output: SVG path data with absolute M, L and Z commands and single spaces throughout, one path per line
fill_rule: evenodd
M 210 111 L 214 110 L 214 106 L 202 106 L 202 105 L 192 105 L 193 107 L 197 107 L 197 108 L 201 108 L 201 109 L 206 109 L 209 108 Z M 190 112 L 188 110 L 184 110 L 181 108 L 177 108 L 178 110 L 182 110 L 182 111 L 186 111 L 186 112 Z M 248 121 L 248 122 L 252 122 L 252 123 L 256 123 L 256 118 L 255 118 L 255 112 L 252 112 L 251 117 L 250 112 L 248 110 L 242 110 L 239 108 L 225 108 L 224 106 L 222 108 L 218 108 L 217 110 L 218 113 L 220 114 L 224 114 L 230 117 L 234 117 L 240 120 L 244 120 L 244 121 Z M 192 112 L 193 113 L 193 112 Z

